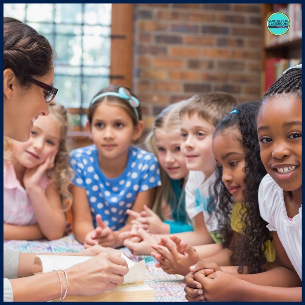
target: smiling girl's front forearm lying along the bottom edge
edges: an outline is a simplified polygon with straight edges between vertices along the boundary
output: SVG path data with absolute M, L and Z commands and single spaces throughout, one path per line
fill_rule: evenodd
M 302 287 L 282 288 L 246 282 L 238 292 L 238 301 L 251 302 L 300 302 Z

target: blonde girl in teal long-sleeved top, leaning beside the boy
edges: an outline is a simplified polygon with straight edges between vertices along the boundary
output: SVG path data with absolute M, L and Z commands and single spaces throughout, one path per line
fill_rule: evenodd
M 148 229 L 153 234 L 192 231 L 185 212 L 183 186 L 188 175 L 184 157 L 180 151 L 180 109 L 185 101 L 172 104 L 156 117 L 152 131 L 146 138 L 146 146 L 158 157 L 162 185 L 152 210 L 144 206 L 140 214 L 127 210 L 137 217 L 132 224 Z M 167 220 L 165 220 L 167 219 Z

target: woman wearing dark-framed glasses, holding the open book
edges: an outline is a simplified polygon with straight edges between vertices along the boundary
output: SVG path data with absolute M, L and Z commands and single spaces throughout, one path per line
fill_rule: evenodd
M 4 17 L 3 26 L 3 134 L 25 142 L 34 120 L 48 115 L 48 102 L 57 92 L 52 87 L 54 52 L 47 39 L 25 23 Z M 69 254 L 94 256 L 90 260 L 65 271 L 33 276 L 38 271 L 34 269 L 34 254 L 4 249 L 4 301 L 47 301 L 62 295 L 93 295 L 112 289 L 123 282 L 128 270 L 119 254 L 94 246 Z

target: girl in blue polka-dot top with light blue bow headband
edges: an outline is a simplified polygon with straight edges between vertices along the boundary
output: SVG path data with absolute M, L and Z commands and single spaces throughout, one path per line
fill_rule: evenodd
M 74 149 L 70 159 L 74 233 L 85 247 L 117 248 L 119 233 L 131 228 L 126 210 L 150 207 L 161 185 L 157 158 L 131 146 L 144 125 L 139 100 L 127 88 L 111 85 L 95 95 L 87 127 L 94 144 Z

